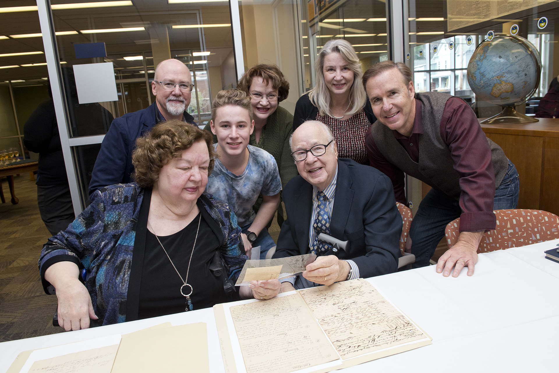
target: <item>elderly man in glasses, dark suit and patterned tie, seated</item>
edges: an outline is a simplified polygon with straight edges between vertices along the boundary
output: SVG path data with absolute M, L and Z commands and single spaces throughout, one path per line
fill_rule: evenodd
M 282 280 L 282 291 L 395 272 L 402 219 L 385 174 L 351 159 L 338 159 L 328 126 L 307 121 L 293 132 L 292 156 L 299 176 L 283 190 L 287 220 L 274 258 L 316 253 L 302 276 Z M 326 233 L 348 240 L 347 251 L 328 253 Z

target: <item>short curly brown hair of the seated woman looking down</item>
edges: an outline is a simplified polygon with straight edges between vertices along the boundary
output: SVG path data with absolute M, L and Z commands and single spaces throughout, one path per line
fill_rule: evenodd
M 161 168 L 169 160 L 181 157 L 184 150 L 190 149 L 198 141 L 206 141 L 210 153 L 209 176 L 217 158 L 212 135 L 196 125 L 177 119 L 160 122 L 148 134 L 136 140 L 136 149 L 132 152 L 135 181 L 143 188 L 152 187 Z

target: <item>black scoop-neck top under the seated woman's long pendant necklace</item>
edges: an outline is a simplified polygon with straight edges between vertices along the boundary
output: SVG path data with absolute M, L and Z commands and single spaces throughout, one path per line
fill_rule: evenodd
M 198 208 L 204 208 L 200 202 Z M 190 224 L 177 233 L 158 236 L 183 279 L 186 278 L 200 216 L 201 214 L 198 214 Z M 195 310 L 229 301 L 222 282 L 209 269 L 211 259 L 219 245 L 219 239 L 202 216 L 187 281 L 192 285 L 190 299 Z M 181 295 L 181 285 L 181 278 L 177 275 L 177 271 L 171 265 L 155 235 L 148 230 L 140 282 L 138 319 L 184 312 L 186 298 Z M 188 294 L 190 287 L 184 286 L 183 292 Z

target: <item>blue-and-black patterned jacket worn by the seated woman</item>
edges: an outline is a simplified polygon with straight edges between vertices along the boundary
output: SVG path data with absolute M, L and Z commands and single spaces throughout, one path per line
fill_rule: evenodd
M 53 294 L 49 289 L 52 286 L 45 280 L 49 266 L 70 261 L 80 270 L 87 270 L 85 285 L 99 318 L 91 320 L 92 325 L 138 319 L 141 263 L 149 213 L 147 203 L 140 209 L 144 196 L 148 202 L 151 190 L 144 190 L 136 183 L 102 188 L 94 193 L 92 204 L 67 230 L 49 238 L 43 245 L 39 271 L 47 294 Z M 207 193 L 203 193 L 198 202 L 198 206 L 203 206 L 202 216 L 219 239 L 230 278 L 236 281 L 248 258 L 241 254 L 244 247 L 235 213 L 226 202 Z

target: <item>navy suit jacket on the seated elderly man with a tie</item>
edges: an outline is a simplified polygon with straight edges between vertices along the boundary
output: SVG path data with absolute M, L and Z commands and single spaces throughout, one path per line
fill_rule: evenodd
M 274 258 L 310 253 L 312 185 L 300 175 L 283 190 L 287 220 L 283 222 Z M 352 259 L 360 277 L 396 272 L 402 218 L 392 182 L 382 172 L 347 158 L 338 159 L 338 179 L 330 219 L 330 235 L 349 240 L 340 259 Z

